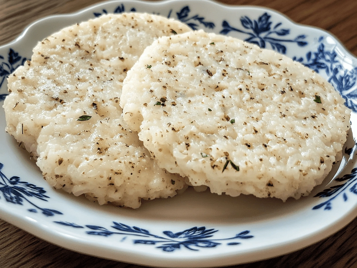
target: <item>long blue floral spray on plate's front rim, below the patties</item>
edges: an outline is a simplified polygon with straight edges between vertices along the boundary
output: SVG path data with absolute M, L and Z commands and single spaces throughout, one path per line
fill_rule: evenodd
M 81 225 L 77 225 L 70 222 L 64 221 L 55 221 L 57 224 L 71 226 L 74 228 L 84 228 Z M 159 236 L 150 233 L 150 231 L 139 228 L 136 226 L 129 226 L 126 224 L 122 224 L 120 222 L 113 221 L 112 228 L 118 230 L 110 231 L 105 227 L 97 226 L 97 225 L 86 225 L 87 228 L 94 231 L 86 231 L 89 235 L 99 235 L 99 236 L 111 236 L 111 235 L 125 235 L 121 241 L 124 241 L 128 235 L 131 236 L 140 236 L 140 237 L 150 237 L 151 239 L 135 239 L 133 240 L 134 244 L 144 244 L 144 245 L 157 245 L 156 248 L 161 248 L 163 251 L 172 252 L 176 249 L 180 249 L 181 246 L 187 249 L 198 251 L 197 248 L 212 248 L 222 243 L 218 241 L 224 240 L 234 240 L 234 239 L 248 239 L 252 238 L 252 235 L 248 235 L 250 231 L 242 231 L 237 233 L 233 237 L 229 238 L 220 238 L 220 239 L 212 239 L 213 233 L 218 232 L 215 229 L 206 229 L 206 227 L 192 227 L 190 229 L 183 230 L 181 232 L 171 232 L 171 231 L 163 231 L 165 236 Z M 241 242 L 228 242 L 228 246 L 239 245 Z

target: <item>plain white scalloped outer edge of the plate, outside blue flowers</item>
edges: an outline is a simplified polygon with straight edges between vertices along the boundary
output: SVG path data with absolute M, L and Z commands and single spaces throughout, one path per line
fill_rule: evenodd
M 35 27 L 37 24 L 42 23 L 43 21 L 50 21 L 51 19 L 57 19 L 57 18 L 66 18 L 66 17 L 75 17 L 77 15 L 80 15 L 86 11 L 95 9 L 97 7 L 102 7 L 102 6 L 106 6 L 108 4 L 112 4 L 112 3 L 125 3 L 125 2 L 137 2 L 138 4 L 150 4 L 150 5 L 161 5 L 161 4 L 170 4 L 173 2 L 179 2 L 179 0 L 163 0 L 163 1 L 155 1 L 155 2 L 151 2 L 151 1 L 139 1 L 139 0 L 132 0 L 132 1 L 126 1 L 126 0 L 112 0 L 112 1 L 104 1 L 104 2 L 100 2 L 88 7 L 85 7 L 84 9 L 81 9 L 79 11 L 73 12 L 73 13 L 69 13 L 69 14 L 57 14 L 57 15 L 50 15 L 50 16 L 46 16 L 44 18 L 38 19 L 34 22 L 32 22 L 30 25 L 28 25 L 24 31 L 22 31 L 22 33 L 13 41 L 6 43 L 2 46 L 0 46 L 0 49 L 4 49 L 6 47 L 12 46 L 14 44 L 17 44 L 19 42 L 21 42 L 22 38 L 24 38 L 26 36 L 26 33 L 29 31 L 29 29 L 31 27 Z M 247 8 L 247 9 L 259 9 L 262 11 L 266 11 L 269 10 L 272 13 L 278 14 L 282 17 L 284 17 L 285 19 L 287 19 L 288 21 L 290 21 L 293 25 L 296 25 L 298 27 L 304 27 L 306 29 L 316 29 L 318 31 L 321 31 L 323 33 L 325 33 L 326 35 L 329 35 L 331 37 L 333 37 L 333 39 L 336 41 L 336 45 L 338 45 L 340 48 L 343 49 L 343 53 L 346 54 L 346 56 L 349 56 L 350 58 L 353 59 L 353 61 L 357 61 L 357 58 L 346 49 L 346 47 L 341 43 L 340 40 L 338 40 L 338 38 L 336 38 L 334 35 L 332 35 L 332 33 L 323 30 L 321 28 L 318 27 L 313 27 L 313 26 L 308 26 L 308 25 L 303 25 L 301 23 L 296 23 L 294 21 L 292 21 L 290 18 L 288 18 L 287 16 L 285 16 L 284 14 L 282 14 L 281 12 L 278 12 L 276 10 L 267 8 L 267 7 L 261 7 L 261 6 L 251 6 L 251 5 L 226 5 L 226 4 L 221 4 L 218 3 L 216 1 L 212 1 L 212 0 L 196 0 L 195 2 L 210 2 L 212 4 L 216 4 L 220 7 L 224 7 L 226 9 L 241 9 L 242 7 Z M 50 243 L 54 243 L 56 245 L 59 245 L 61 247 L 67 248 L 67 249 L 71 249 L 73 251 L 76 252 L 81 252 L 84 254 L 90 254 L 92 256 L 98 256 L 98 257 L 102 257 L 102 258 L 107 258 L 107 259 L 114 259 L 114 260 L 119 260 L 117 258 L 111 258 L 109 256 L 103 256 L 102 254 L 95 254 L 95 253 L 88 253 L 87 251 L 81 251 L 78 250 L 77 248 L 75 248 L 76 245 L 81 245 L 83 246 L 85 244 L 85 241 L 82 241 L 81 238 L 79 237 L 71 237 L 72 241 L 75 242 L 76 245 L 71 246 L 67 246 L 65 245 L 65 241 L 66 241 L 66 237 L 68 239 L 68 235 L 59 232 L 58 230 L 51 230 L 50 226 L 46 225 L 46 224 L 41 224 L 41 223 L 35 223 L 34 220 L 30 220 L 30 217 L 24 217 L 21 216 L 19 213 L 12 213 L 7 211 L 6 209 L 2 209 L 0 208 L 0 210 L 2 212 L 5 212 L 5 217 L 4 215 L 1 215 L 1 218 L 10 222 L 11 224 L 20 227 L 21 229 L 28 231 L 32 234 L 34 234 L 37 237 L 40 237 Z M 344 215 L 344 217 L 339 218 L 338 221 L 335 221 L 333 224 L 330 224 L 328 226 L 324 226 L 322 229 L 316 231 L 315 233 L 313 233 L 310 236 L 307 237 L 301 237 L 298 240 L 295 241 L 285 241 L 283 243 L 278 243 L 276 244 L 274 247 L 268 247 L 268 246 L 263 246 L 260 248 L 255 248 L 253 251 L 252 250 L 246 250 L 246 251 L 240 251 L 237 253 L 228 253 L 225 254 L 224 256 L 215 256 L 215 253 L 213 252 L 212 254 L 212 259 L 209 259 L 210 262 L 214 262 L 214 259 L 218 259 L 218 258 L 222 258 L 223 262 L 220 262 L 220 264 L 212 264 L 212 266 L 226 266 L 226 265 L 231 265 L 231 264 L 237 264 L 237 263 L 245 263 L 245 262 L 252 262 L 252 261 L 258 261 L 261 259 L 267 259 L 267 258 L 272 258 L 275 256 L 280 256 L 292 251 L 295 251 L 297 249 L 309 246 L 313 243 L 316 243 L 318 241 L 321 241 L 322 239 L 326 238 L 327 236 L 332 235 L 333 233 L 337 232 L 338 230 L 340 230 L 341 228 L 343 228 L 344 226 L 346 226 L 349 222 L 351 222 L 355 216 L 357 215 L 357 203 L 355 203 L 355 205 L 353 206 L 353 209 L 351 209 L 347 214 Z M 15 218 L 14 218 L 15 217 Z M 17 218 L 17 219 L 16 219 Z M 20 222 L 18 222 L 17 220 L 21 220 Z M 29 225 L 28 225 L 29 224 Z M 32 226 L 32 227 L 30 227 Z M 40 228 L 39 228 L 40 227 Z M 34 229 L 34 230 L 32 230 Z M 61 237 L 61 241 L 63 241 L 63 243 L 60 242 L 53 242 L 53 240 L 51 241 L 50 235 L 56 235 L 57 237 Z M 67 240 L 68 241 L 68 240 Z M 84 242 L 84 244 L 83 244 Z M 90 241 L 90 244 L 92 244 L 94 242 Z M 105 244 L 105 242 L 103 242 L 103 244 Z M 110 248 L 108 248 L 110 249 Z M 270 251 L 278 251 L 279 249 L 282 249 L 281 252 L 275 252 L 275 253 L 271 253 Z M 143 261 L 138 261 L 138 262 L 132 262 L 130 261 L 130 259 L 132 259 L 132 257 L 129 257 L 129 259 L 124 259 L 121 258 L 120 261 L 124 261 L 124 262 L 129 262 L 129 263 L 135 263 L 135 264 L 144 264 L 144 265 L 149 265 L 149 266 L 155 266 L 157 264 L 156 261 L 158 261 L 156 259 L 156 261 L 154 259 L 152 259 L 151 261 L 148 262 L 148 260 L 146 258 L 150 257 L 150 251 L 148 251 L 148 256 L 143 256 L 142 253 L 136 253 L 135 250 L 131 250 L 130 248 L 126 248 L 126 252 L 124 252 L 124 249 L 121 249 L 122 252 L 120 253 L 130 253 L 130 254 L 137 254 L 138 256 L 136 256 L 136 258 L 138 260 L 142 259 Z M 95 251 L 95 248 L 93 248 L 93 251 Z M 115 249 L 112 249 L 112 251 L 115 251 Z M 269 252 L 268 252 L 269 251 Z M 260 254 L 259 257 L 255 256 L 256 254 Z M 221 255 L 221 254 L 220 254 Z M 243 256 L 244 255 L 244 256 Z M 162 255 L 164 256 L 164 255 Z M 205 265 L 201 264 L 202 259 L 204 258 L 207 261 L 207 257 L 206 256 L 197 256 L 197 259 L 192 260 L 192 259 L 184 259 L 182 260 L 182 258 L 180 258 L 180 260 L 175 259 L 178 258 L 176 256 L 169 256 L 167 257 L 162 257 L 160 256 L 160 262 L 161 264 L 159 264 L 160 266 L 168 266 L 168 267 L 191 267 L 192 264 L 195 265 L 195 267 L 207 267 Z M 156 256 L 156 258 L 158 258 Z M 234 258 L 240 258 L 239 261 L 234 260 Z M 177 266 L 175 265 L 175 262 L 180 261 L 180 265 Z M 193 261 L 193 262 L 192 262 Z M 216 263 L 216 262 L 215 262 Z

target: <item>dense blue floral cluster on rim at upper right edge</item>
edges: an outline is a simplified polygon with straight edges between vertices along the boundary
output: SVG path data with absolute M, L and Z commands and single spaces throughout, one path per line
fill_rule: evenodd
M 328 82 L 346 100 L 345 105 L 352 111 L 357 112 L 357 67 L 346 70 L 341 61 L 337 59 L 336 51 L 334 49 L 331 51 L 325 49 L 323 40 L 322 36 L 318 39 L 320 45 L 317 51 L 306 53 L 306 60 L 303 57 L 293 57 L 293 60 L 313 69 L 316 73 L 325 72 Z

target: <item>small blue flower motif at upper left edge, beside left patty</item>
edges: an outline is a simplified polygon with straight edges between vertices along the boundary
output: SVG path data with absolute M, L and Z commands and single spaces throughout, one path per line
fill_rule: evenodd
M 0 55 L 0 60 L 4 59 L 5 58 Z M 0 88 L 9 74 L 14 72 L 20 65 L 23 65 L 26 60 L 25 57 L 21 57 L 18 52 L 14 51 L 14 49 L 9 49 L 9 53 L 7 53 L 7 61 L 2 61 L 0 63 Z M 0 101 L 4 100 L 6 95 L 7 94 L 0 94 Z

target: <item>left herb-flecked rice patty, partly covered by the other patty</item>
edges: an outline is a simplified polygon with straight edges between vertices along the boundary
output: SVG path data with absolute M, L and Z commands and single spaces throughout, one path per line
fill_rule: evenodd
M 8 79 L 6 131 L 38 157 L 56 188 L 130 207 L 175 195 L 184 179 L 150 158 L 123 121 L 119 98 L 144 48 L 185 31 L 183 23 L 156 15 L 109 14 L 45 38 Z M 83 115 L 91 118 L 77 121 Z

